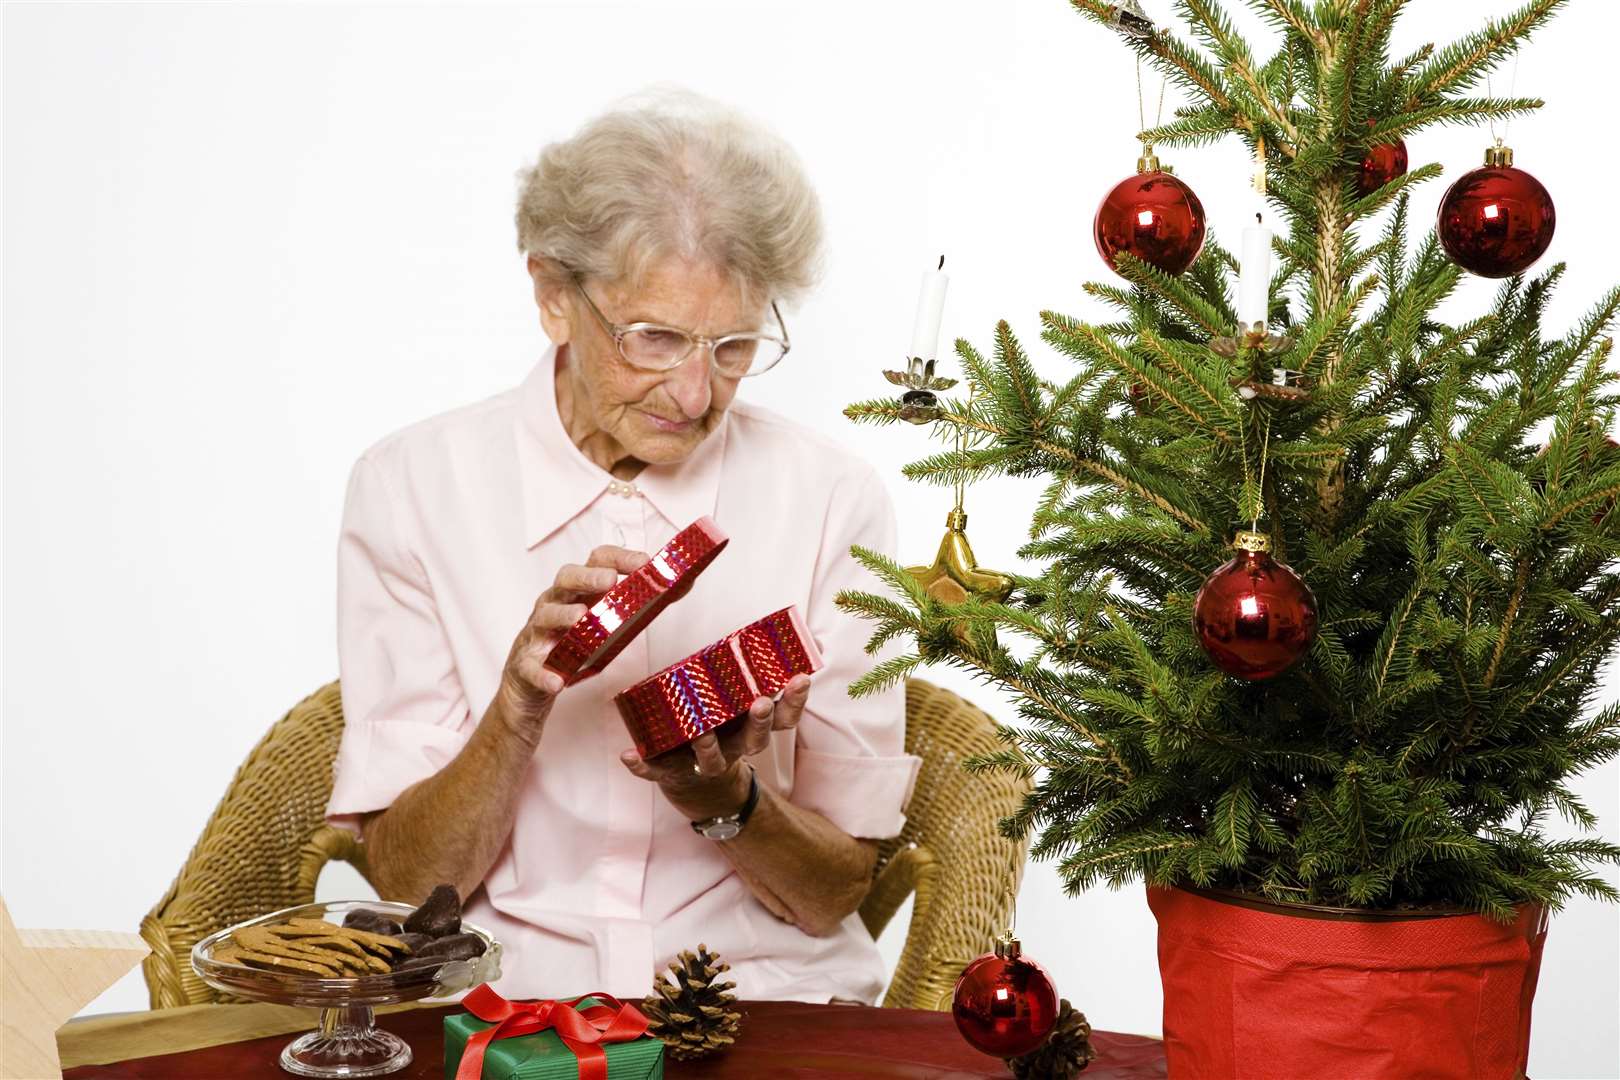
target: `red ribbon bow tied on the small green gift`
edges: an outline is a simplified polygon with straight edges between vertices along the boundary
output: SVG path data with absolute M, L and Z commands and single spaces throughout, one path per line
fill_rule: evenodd
M 606 1004 L 578 1009 L 586 997 Z M 601 1043 L 629 1043 L 646 1035 L 642 1010 L 609 994 L 583 994 L 573 1001 L 507 1001 L 484 984 L 463 997 L 462 1006 L 496 1027 L 467 1040 L 455 1080 L 480 1080 L 489 1043 L 548 1028 L 556 1030 L 564 1046 L 580 1059 L 580 1080 L 608 1080 L 608 1051 Z

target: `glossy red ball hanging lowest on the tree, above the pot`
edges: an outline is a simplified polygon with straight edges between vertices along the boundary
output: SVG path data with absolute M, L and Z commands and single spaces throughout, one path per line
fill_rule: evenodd
M 1192 601 L 1199 644 L 1228 675 L 1260 682 L 1294 665 L 1315 640 L 1311 586 L 1270 555 L 1256 533 L 1238 534 L 1238 554 L 1204 580 Z

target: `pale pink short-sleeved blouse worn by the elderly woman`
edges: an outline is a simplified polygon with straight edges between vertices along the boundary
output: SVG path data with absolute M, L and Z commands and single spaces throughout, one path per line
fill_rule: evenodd
M 854 701 L 876 661 L 833 604 L 876 581 L 850 544 L 893 554 L 894 508 L 872 466 L 734 400 L 690 458 L 617 481 L 569 440 L 552 348 L 525 382 L 399 431 L 355 463 L 339 536 L 347 725 L 327 819 L 389 806 L 437 772 L 494 698 L 512 640 L 557 568 L 598 544 L 654 552 L 711 515 L 731 546 L 603 674 L 561 693 L 517 819 L 468 921 L 505 946 L 509 997 L 640 997 L 698 942 L 742 997 L 873 1001 L 885 983 L 857 915 L 828 938 L 778 921 L 654 784 L 625 771 L 612 695 L 755 619 L 797 604 L 826 667 L 791 737 L 753 759 L 761 785 L 857 837 L 904 823 L 920 761 L 899 688 Z

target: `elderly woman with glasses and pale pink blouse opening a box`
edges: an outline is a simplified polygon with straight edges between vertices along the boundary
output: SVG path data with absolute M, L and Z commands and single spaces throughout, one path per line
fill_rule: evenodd
M 356 461 L 339 541 L 347 727 L 327 816 L 389 899 L 441 881 L 505 942 L 499 989 L 645 994 L 706 942 L 748 997 L 873 1001 L 855 908 L 919 761 L 899 691 L 852 701 L 867 586 L 893 551 L 870 466 L 737 397 L 789 350 L 820 210 L 795 157 L 661 97 L 548 146 L 518 246 L 552 347 L 523 384 Z M 797 356 L 794 358 L 797 359 Z M 562 688 L 562 630 L 676 531 L 732 538 L 606 670 Z M 826 667 L 737 730 L 643 761 L 612 695 L 797 604 Z

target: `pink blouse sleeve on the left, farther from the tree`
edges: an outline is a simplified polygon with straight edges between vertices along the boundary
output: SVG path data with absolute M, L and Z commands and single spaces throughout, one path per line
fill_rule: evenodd
M 471 732 L 467 696 L 400 507 L 369 457 L 348 478 L 337 541 L 337 661 L 343 738 L 326 819 L 358 832 L 442 769 Z

